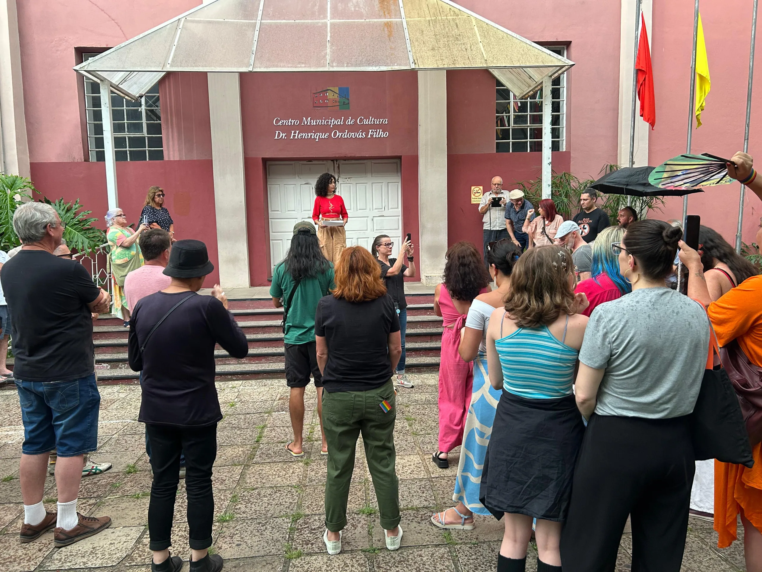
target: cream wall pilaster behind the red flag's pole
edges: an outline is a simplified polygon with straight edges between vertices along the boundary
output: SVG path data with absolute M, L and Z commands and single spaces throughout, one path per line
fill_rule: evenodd
M 632 117 L 632 74 L 635 62 L 632 59 L 635 48 L 635 3 L 638 0 L 621 0 L 620 13 L 620 85 L 619 85 L 619 139 L 616 162 L 623 167 L 629 163 L 629 125 Z M 651 14 L 652 0 L 641 0 L 640 8 L 648 28 L 648 37 L 652 37 Z M 636 98 L 637 99 L 637 98 Z M 635 154 L 632 165 L 648 165 L 648 130 L 650 125 L 640 117 L 640 107 L 636 101 L 635 116 Z

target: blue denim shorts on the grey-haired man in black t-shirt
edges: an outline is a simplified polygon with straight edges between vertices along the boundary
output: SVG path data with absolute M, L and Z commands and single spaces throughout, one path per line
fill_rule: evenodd
M 54 449 L 76 457 L 98 448 L 101 394 L 95 374 L 72 381 L 15 380 L 24 419 L 24 455 Z

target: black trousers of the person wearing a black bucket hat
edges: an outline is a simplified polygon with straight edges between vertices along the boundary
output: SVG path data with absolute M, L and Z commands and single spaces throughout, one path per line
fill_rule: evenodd
M 180 482 L 180 455 L 185 455 L 188 529 L 191 548 L 212 545 L 214 497 L 212 465 L 217 457 L 217 424 L 207 427 L 168 427 L 146 424 L 151 442 L 151 503 L 148 527 L 151 550 L 171 545 L 174 499 Z

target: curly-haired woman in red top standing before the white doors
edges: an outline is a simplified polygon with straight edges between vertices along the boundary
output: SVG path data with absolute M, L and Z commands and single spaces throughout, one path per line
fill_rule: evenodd
M 315 182 L 315 207 L 312 220 L 318 225 L 320 249 L 325 258 L 338 262 L 341 251 L 347 247 L 347 207 L 344 199 L 336 192 L 336 178 L 331 173 L 323 173 Z

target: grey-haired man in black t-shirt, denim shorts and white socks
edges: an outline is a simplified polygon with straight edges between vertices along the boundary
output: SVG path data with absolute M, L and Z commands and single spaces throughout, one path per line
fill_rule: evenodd
M 98 534 L 107 516 L 77 513 L 84 455 L 98 447 L 91 312 L 107 312 L 110 296 L 87 270 L 53 251 L 64 225 L 50 204 L 22 204 L 13 217 L 22 248 L 5 263 L 0 282 L 14 317 L 11 340 L 14 378 L 24 419 L 21 446 L 21 542 L 55 528 L 55 545 L 66 546 Z M 55 288 L 51 285 L 55 284 Z M 48 453 L 58 451 L 58 512 L 43 506 Z

